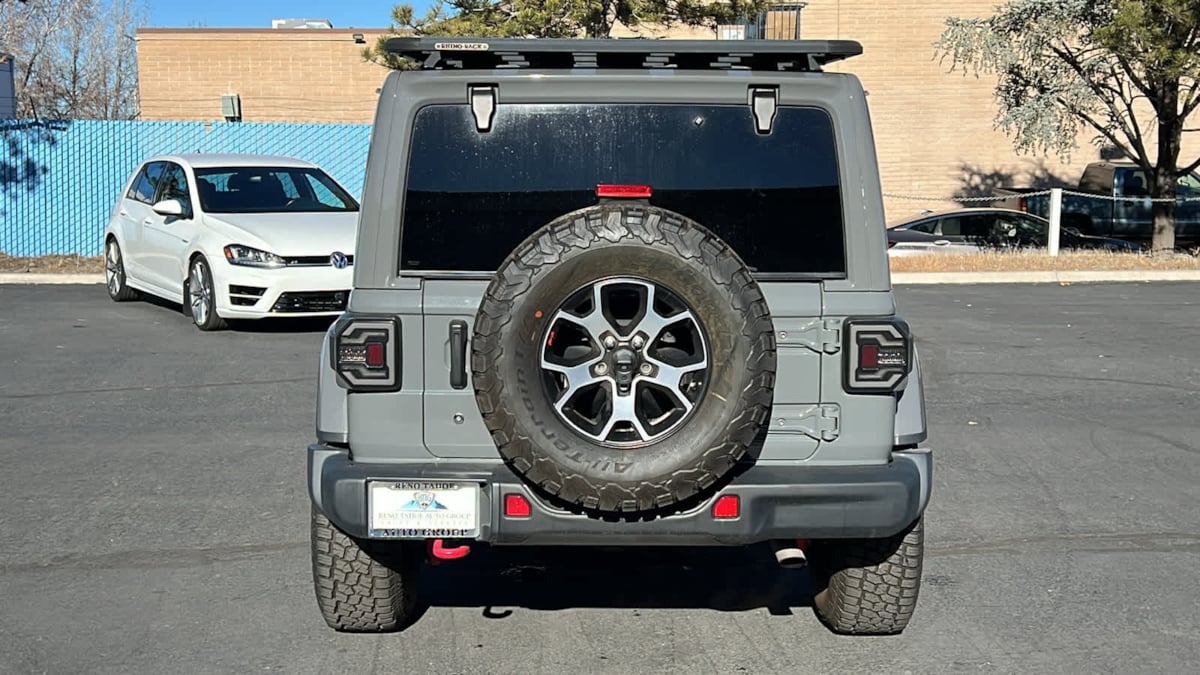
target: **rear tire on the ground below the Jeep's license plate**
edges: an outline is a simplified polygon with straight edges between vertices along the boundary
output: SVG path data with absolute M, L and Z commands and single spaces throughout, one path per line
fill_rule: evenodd
M 312 509 L 312 580 L 325 623 L 346 633 L 402 631 L 416 617 L 421 554 L 359 540 Z

